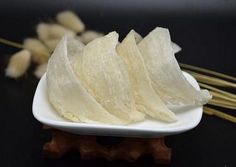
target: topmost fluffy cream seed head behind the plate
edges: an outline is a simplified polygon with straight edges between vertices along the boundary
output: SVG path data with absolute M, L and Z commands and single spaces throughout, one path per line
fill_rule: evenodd
M 85 29 L 85 25 L 81 19 L 71 11 L 63 11 L 58 13 L 56 19 L 60 24 L 77 33 L 83 32 Z

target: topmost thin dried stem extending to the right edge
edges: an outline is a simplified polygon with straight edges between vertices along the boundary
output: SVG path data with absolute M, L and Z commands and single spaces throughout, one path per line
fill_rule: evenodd
M 215 72 L 215 71 L 212 71 L 212 70 L 208 70 L 208 69 L 205 69 L 205 68 L 196 67 L 196 66 L 192 66 L 192 65 L 188 65 L 188 64 L 179 63 L 179 65 L 180 65 L 180 67 L 183 67 L 183 68 L 186 68 L 186 69 L 204 72 L 206 74 L 215 75 L 217 77 L 224 78 L 224 79 L 229 79 L 229 80 L 232 80 L 232 81 L 236 82 L 236 77 L 233 77 L 233 76 L 229 76 L 229 75 L 226 75 L 226 74 L 222 74 L 222 73 L 219 73 L 219 72 Z

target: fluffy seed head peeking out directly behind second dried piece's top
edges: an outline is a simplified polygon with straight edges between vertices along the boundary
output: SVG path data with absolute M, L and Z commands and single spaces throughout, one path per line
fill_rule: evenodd
M 96 39 L 98 37 L 102 37 L 102 36 L 104 36 L 103 33 L 100 33 L 100 32 L 97 32 L 97 31 L 88 30 L 88 31 L 85 31 L 84 33 L 81 34 L 80 40 L 84 44 L 87 44 L 87 43 L 91 42 L 92 40 L 94 40 L 94 39 Z

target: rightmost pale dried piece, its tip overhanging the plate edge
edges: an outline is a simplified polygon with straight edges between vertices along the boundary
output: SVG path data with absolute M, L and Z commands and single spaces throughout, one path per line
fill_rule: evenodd
M 154 90 L 170 107 L 198 106 L 211 98 L 207 90 L 197 91 L 183 76 L 175 59 L 168 29 L 157 27 L 139 44 Z

